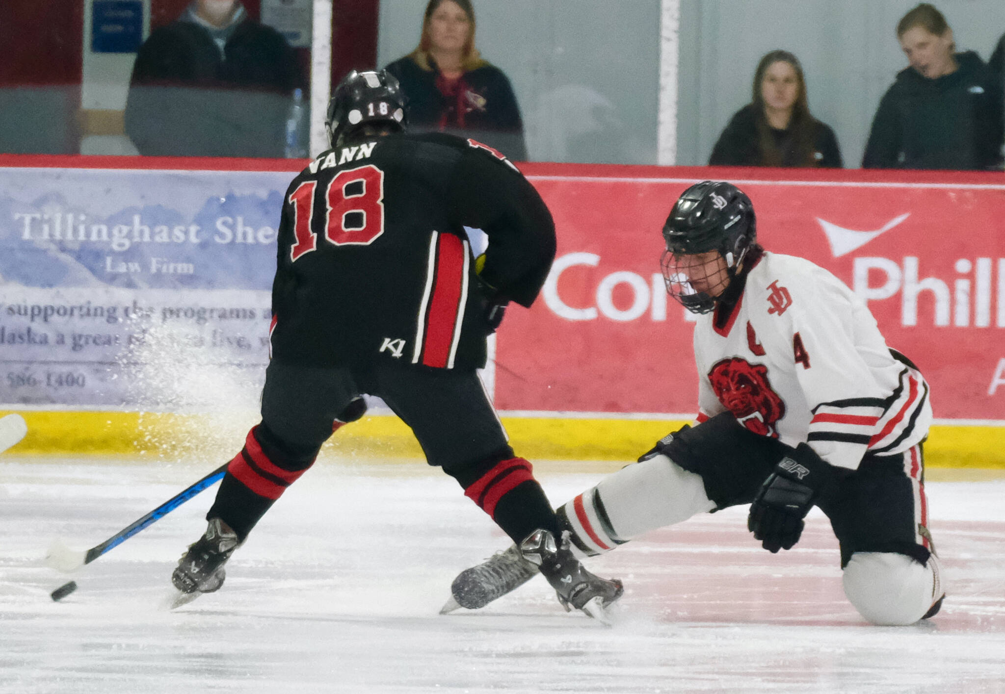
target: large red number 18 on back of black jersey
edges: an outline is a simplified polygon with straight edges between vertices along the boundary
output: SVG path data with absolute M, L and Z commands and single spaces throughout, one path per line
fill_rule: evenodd
M 317 181 L 305 181 L 289 195 L 295 243 L 289 259 L 318 249 L 314 228 Z M 325 238 L 336 246 L 366 246 L 384 233 L 384 172 L 372 164 L 341 171 L 325 191 Z

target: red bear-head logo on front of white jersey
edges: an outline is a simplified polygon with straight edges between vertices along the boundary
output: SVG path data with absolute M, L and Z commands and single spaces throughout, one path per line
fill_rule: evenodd
M 740 424 L 761 436 L 778 438 L 775 423 L 785 417 L 785 403 L 768 381 L 768 367 L 734 357 L 709 372 L 712 388 Z

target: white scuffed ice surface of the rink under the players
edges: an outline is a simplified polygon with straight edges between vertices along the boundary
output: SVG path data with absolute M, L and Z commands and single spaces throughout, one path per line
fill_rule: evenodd
M 169 575 L 215 488 L 49 599 L 67 580 L 43 563 L 54 537 L 85 549 L 211 467 L 0 459 L 0 691 L 1005 692 L 1002 480 L 929 484 L 949 598 L 913 627 L 857 616 L 818 512 L 795 549 L 772 555 L 745 509 L 592 560 L 627 589 L 611 629 L 566 614 L 541 579 L 440 616 L 454 574 L 508 540 L 419 462 L 319 463 L 237 551 L 224 588 L 176 612 L 160 608 Z M 555 503 L 599 478 L 546 469 Z

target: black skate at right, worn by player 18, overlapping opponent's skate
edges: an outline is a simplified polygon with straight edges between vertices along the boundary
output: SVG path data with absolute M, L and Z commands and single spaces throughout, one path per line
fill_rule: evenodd
M 610 625 L 605 610 L 621 597 L 624 588 L 617 579 L 607 581 L 586 570 L 573 556 L 568 532 L 563 533 L 562 545 L 559 546 L 550 531 L 535 530 L 520 543 L 520 551 L 525 559 L 539 566 L 566 612 L 573 608 L 582 610 L 595 620 Z

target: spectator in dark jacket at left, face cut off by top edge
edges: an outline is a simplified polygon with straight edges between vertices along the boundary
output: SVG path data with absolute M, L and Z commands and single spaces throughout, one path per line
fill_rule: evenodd
M 299 66 L 236 0 L 194 0 L 140 47 L 126 133 L 140 154 L 282 157 Z

